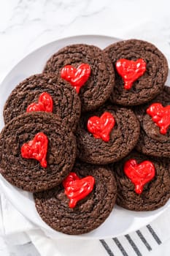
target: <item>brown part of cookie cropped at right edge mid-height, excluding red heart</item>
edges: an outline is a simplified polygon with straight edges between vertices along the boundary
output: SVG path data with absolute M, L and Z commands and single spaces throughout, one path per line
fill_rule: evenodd
M 136 150 L 153 157 L 170 157 L 170 127 L 166 134 L 161 134 L 160 127 L 152 121 L 152 117 L 146 112 L 147 108 L 154 102 L 161 103 L 163 107 L 170 105 L 170 87 L 165 86 L 163 92 L 152 102 L 134 108 L 141 126 Z

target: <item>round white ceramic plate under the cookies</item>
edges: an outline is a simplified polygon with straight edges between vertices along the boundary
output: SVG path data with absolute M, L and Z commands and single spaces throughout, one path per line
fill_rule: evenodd
M 69 37 L 51 42 L 26 56 L 12 69 L 11 72 L 9 72 L 7 77 L 1 83 L 0 129 L 4 127 L 2 116 L 4 103 L 12 89 L 14 89 L 20 81 L 28 76 L 42 72 L 45 62 L 53 53 L 60 48 L 63 48 L 63 46 L 75 43 L 87 43 L 97 45 L 100 48 L 105 48 L 107 45 L 116 41 L 118 41 L 118 39 L 112 37 L 93 35 Z M 21 214 L 30 219 L 31 222 L 34 222 L 37 226 L 41 227 L 48 236 L 53 238 L 108 238 L 120 236 L 147 225 L 170 206 L 170 200 L 166 203 L 166 206 L 155 211 L 136 212 L 115 206 L 107 220 L 96 230 L 81 236 L 68 236 L 51 229 L 42 221 L 36 213 L 34 199 L 31 193 L 24 192 L 21 189 L 13 187 L 2 176 L 0 176 L 0 184 L 2 191 L 13 206 L 15 206 Z

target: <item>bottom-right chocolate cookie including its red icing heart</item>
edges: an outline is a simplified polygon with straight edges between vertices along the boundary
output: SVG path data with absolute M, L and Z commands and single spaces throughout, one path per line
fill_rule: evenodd
M 117 181 L 117 205 L 132 211 L 152 211 L 163 206 L 170 197 L 169 168 L 170 161 L 136 151 L 116 162 L 112 170 Z

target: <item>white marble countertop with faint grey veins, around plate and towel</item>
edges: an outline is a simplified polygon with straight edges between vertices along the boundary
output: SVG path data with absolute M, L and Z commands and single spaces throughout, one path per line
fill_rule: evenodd
M 170 67 L 169 0 L 6 0 L 0 1 L 0 81 L 32 50 L 80 34 L 146 39 Z M 28 246 L 24 255 L 38 255 Z

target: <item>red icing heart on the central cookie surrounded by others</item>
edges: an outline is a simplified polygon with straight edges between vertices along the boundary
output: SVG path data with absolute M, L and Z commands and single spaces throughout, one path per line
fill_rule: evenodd
M 88 131 L 94 138 L 101 138 L 105 142 L 109 141 L 109 133 L 115 126 L 115 118 L 109 112 L 104 112 L 101 117 L 92 116 L 88 119 Z

